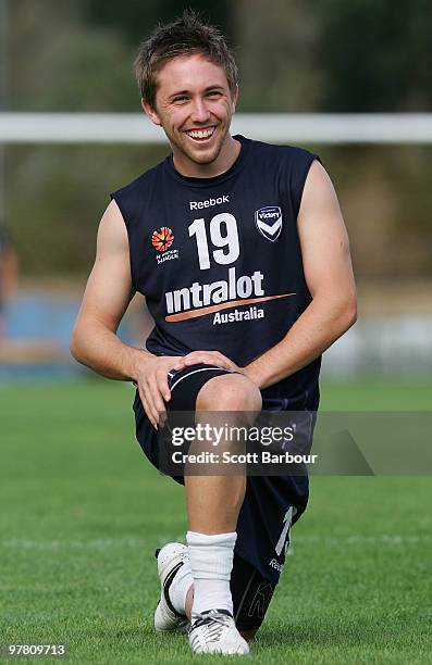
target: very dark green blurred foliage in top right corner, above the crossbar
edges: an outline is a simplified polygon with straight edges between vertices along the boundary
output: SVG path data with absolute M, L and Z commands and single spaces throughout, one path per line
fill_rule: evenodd
M 430 0 L 313 0 L 322 111 L 428 111 Z

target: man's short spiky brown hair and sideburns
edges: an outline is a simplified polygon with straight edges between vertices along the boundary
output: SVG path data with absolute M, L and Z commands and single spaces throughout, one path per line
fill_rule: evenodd
M 238 71 L 225 38 L 215 26 L 201 21 L 199 14 L 186 10 L 173 23 L 159 25 L 139 47 L 135 74 L 143 100 L 155 109 L 156 75 L 161 66 L 172 58 L 194 53 L 201 53 L 223 67 L 230 89 L 234 92 L 238 85 Z

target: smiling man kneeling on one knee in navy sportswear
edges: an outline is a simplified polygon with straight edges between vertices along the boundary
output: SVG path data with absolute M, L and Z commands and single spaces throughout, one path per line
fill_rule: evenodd
M 230 134 L 237 68 L 222 35 L 186 12 L 140 47 L 136 73 L 172 154 L 112 195 L 71 350 L 137 385 L 137 439 L 158 466 L 166 412 L 193 412 L 197 423 L 222 412 L 250 425 L 260 411 L 297 411 L 312 423 L 321 353 L 354 323 L 356 296 L 319 158 Z M 116 336 L 136 291 L 155 318 L 146 349 Z M 185 485 L 187 544 L 157 553 L 156 630 L 187 617 L 194 652 L 246 654 L 308 478 L 246 478 L 239 467 L 175 479 Z

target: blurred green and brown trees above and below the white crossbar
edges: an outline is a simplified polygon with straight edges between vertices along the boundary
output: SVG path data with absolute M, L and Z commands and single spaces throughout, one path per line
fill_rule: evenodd
M 235 37 L 242 111 L 430 109 L 430 0 L 189 4 Z M 11 1 L 11 110 L 138 112 L 136 47 L 184 7 L 176 0 Z M 309 148 L 321 154 L 336 184 L 358 275 L 432 275 L 431 148 Z M 165 151 L 10 148 L 8 211 L 23 271 L 85 272 L 107 192 Z

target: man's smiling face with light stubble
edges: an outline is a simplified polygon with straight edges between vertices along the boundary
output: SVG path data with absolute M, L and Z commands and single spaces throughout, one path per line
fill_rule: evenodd
M 178 55 L 158 73 L 156 109 L 143 106 L 162 125 L 174 156 L 210 164 L 229 135 L 236 99 L 221 66 L 200 54 Z

